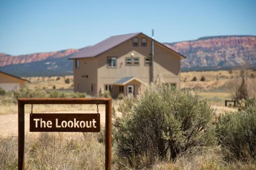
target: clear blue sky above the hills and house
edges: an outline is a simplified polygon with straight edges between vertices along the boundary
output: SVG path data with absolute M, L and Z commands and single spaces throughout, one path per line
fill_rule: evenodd
M 0 53 L 21 55 L 93 45 L 143 32 L 160 42 L 256 35 L 256 1 L 3 1 Z

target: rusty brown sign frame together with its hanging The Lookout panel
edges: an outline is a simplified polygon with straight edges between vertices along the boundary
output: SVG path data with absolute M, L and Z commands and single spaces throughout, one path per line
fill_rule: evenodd
M 105 105 L 105 169 L 111 169 L 112 99 L 110 98 L 21 98 L 18 99 L 18 169 L 24 170 L 25 104 L 103 104 Z M 31 132 L 100 132 L 100 114 L 31 113 Z

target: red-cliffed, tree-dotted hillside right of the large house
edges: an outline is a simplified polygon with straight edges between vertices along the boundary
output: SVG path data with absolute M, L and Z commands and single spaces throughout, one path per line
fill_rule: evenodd
M 165 43 L 186 56 L 182 70 L 230 69 L 244 63 L 256 67 L 256 36 L 214 36 Z

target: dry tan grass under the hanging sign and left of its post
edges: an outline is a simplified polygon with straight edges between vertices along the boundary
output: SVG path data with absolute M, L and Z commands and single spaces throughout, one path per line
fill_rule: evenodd
M 104 169 L 104 144 L 95 134 L 41 133 L 26 137 L 25 169 Z M 17 139 L 0 139 L 0 169 L 17 169 Z

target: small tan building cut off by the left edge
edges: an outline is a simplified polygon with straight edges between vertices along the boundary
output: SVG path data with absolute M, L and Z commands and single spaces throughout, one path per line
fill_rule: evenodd
M 24 86 L 26 82 L 30 81 L 0 71 L 0 87 L 5 91 L 20 88 Z

